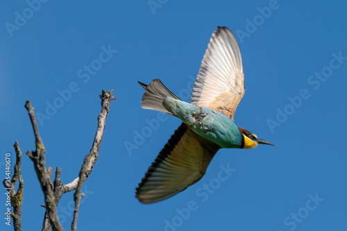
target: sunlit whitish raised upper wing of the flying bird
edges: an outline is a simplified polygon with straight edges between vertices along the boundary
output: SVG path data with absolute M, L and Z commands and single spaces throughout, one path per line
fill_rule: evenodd
M 244 67 L 235 36 L 226 27 L 214 31 L 193 87 L 191 103 L 234 118 L 244 96 Z

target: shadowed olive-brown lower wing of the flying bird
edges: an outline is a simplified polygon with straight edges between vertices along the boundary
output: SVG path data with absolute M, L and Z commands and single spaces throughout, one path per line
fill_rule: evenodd
M 178 194 L 203 177 L 218 150 L 217 144 L 182 123 L 149 167 L 135 196 L 142 203 L 154 203 Z

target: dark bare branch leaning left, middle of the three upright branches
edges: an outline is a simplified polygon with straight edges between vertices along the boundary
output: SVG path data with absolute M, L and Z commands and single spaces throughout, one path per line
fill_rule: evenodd
M 30 101 L 26 101 L 26 110 L 28 110 L 31 124 L 35 134 L 36 151 L 27 151 L 26 155 L 33 160 L 37 178 L 40 181 L 42 191 L 44 192 L 44 202 L 46 212 L 49 217 L 49 221 L 54 231 L 63 230 L 62 225 L 59 222 L 58 214 L 56 211 L 56 202 L 53 194 L 51 171 L 46 169 L 44 144 L 40 137 L 39 130 L 37 128 L 36 117 L 34 114 L 34 108 L 31 106 Z

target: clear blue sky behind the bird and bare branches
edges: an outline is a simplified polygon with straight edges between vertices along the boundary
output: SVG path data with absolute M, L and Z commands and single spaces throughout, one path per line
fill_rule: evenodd
M 0 176 L 5 153 L 15 161 L 15 140 L 23 153 L 35 148 L 30 99 L 46 165 L 62 168 L 63 183 L 74 180 L 92 146 L 99 94 L 114 89 L 78 230 L 346 230 L 346 10 L 341 1 L 4 1 Z M 142 205 L 135 187 L 180 121 L 143 110 L 137 80 L 160 78 L 189 101 L 217 26 L 235 33 L 244 62 L 235 123 L 276 146 L 223 149 L 201 181 Z M 25 154 L 22 176 L 22 226 L 40 230 L 44 198 Z M 73 194 L 63 195 L 65 230 L 73 206 Z

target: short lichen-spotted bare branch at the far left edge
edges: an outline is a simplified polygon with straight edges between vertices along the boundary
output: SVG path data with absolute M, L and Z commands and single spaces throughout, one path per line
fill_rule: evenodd
M 9 181 L 7 179 L 3 180 L 3 186 L 10 192 L 11 205 L 13 207 L 13 213 L 10 214 L 13 219 L 13 228 L 15 231 L 22 231 L 22 202 L 23 202 L 23 190 L 24 190 L 24 180 L 21 174 L 21 164 L 22 164 L 22 151 L 19 148 L 17 140 L 13 145 L 16 152 L 16 163 L 13 167 L 14 173 L 12 179 Z M 19 188 L 17 194 L 15 191 L 15 185 L 19 179 Z

